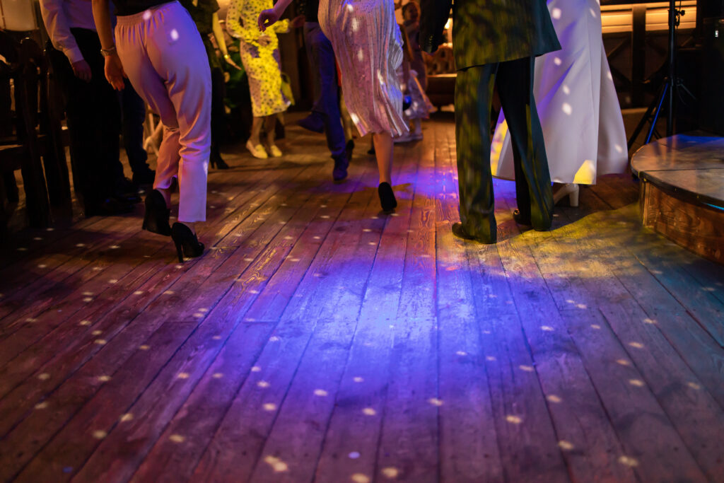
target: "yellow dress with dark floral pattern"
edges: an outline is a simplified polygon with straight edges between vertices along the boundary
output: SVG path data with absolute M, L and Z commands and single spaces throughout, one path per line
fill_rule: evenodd
M 282 93 L 277 39 L 277 33 L 289 30 L 289 20 L 279 20 L 264 33 L 256 25 L 261 11 L 271 7 L 274 7 L 273 0 L 232 0 L 227 13 L 227 31 L 241 40 L 241 62 L 249 78 L 254 117 L 285 112 L 290 105 Z

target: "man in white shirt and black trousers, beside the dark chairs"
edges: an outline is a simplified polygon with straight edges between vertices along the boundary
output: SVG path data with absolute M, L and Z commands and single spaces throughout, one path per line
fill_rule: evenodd
M 51 65 L 64 95 L 73 184 L 85 216 L 128 213 L 138 193 L 119 193 L 132 190 L 123 186 L 119 161 L 121 106 L 106 81 L 90 2 L 41 0 L 40 4 L 52 43 Z

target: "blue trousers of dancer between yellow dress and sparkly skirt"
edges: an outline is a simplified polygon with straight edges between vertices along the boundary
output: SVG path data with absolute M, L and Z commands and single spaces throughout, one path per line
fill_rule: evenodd
M 304 42 L 314 80 L 312 112 L 324 119 L 324 133 L 332 157 L 345 152 L 345 130 L 340 114 L 340 88 L 337 84 L 337 64 L 334 62 L 332 43 L 322 33 L 319 23 L 304 24 Z

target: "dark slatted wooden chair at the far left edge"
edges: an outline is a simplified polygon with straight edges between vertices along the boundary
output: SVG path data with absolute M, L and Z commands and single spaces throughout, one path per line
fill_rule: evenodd
M 0 183 L 0 230 L 7 224 L 5 200 L 14 201 L 17 196 L 8 179 L 17 169 L 22 173 L 29 224 L 46 227 L 51 204 L 70 205 L 60 117 L 51 102 L 49 64 L 35 41 L 17 42 L 1 31 L 0 56 L 5 59 L 0 62 L 0 83 L 12 85 L 14 101 L 10 112 L 13 133 L 0 138 L 0 173 L 5 181 Z

